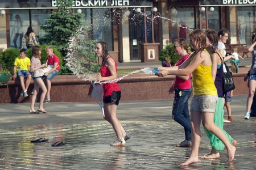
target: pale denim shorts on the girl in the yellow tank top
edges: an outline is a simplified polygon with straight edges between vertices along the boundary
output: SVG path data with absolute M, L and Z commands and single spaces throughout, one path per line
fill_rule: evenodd
M 215 112 L 218 95 L 194 95 L 191 100 L 190 111 Z

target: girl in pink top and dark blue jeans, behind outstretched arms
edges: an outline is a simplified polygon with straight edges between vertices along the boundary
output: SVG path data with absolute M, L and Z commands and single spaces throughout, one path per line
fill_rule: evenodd
M 176 39 L 174 50 L 180 56 L 175 66 L 180 66 L 191 53 L 191 48 L 185 39 Z M 191 74 L 176 76 L 169 90 L 170 94 L 175 94 L 174 104 L 172 105 L 172 118 L 183 126 L 185 131 L 185 140 L 177 144 L 176 147 L 191 147 L 191 125 L 188 110 L 188 99 L 192 93 L 190 76 Z

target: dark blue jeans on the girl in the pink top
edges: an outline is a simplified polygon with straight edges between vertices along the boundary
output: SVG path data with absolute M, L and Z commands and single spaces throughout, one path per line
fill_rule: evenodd
M 191 141 L 191 125 L 188 110 L 188 99 L 192 90 L 175 88 L 174 105 L 172 106 L 172 118 L 185 130 L 185 139 Z

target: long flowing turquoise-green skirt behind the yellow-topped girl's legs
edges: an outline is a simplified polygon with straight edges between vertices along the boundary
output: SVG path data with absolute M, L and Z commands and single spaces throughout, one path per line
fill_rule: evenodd
M 218 101 L 216 103 L 215 113 L 214 113 L 214 124 L 216 124 L 228 137 L 229 142 L 232 143 L 233 138 L 223 129 L 223 101 L 222 97 L 218 97 Z M 207 137 L 210 139 L 210 145 L 218 150 L 223 151 L 224 150 L 224 143 L 221 142 L 220 139 L 218 139 L 214 134 L 212 134 L 210 131 L 205 129 L 205 133 L 207 134 Z

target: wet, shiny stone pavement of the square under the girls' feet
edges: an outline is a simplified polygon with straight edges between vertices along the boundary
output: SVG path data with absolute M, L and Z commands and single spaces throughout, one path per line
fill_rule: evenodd
M 255 169 L 256 118 L 243 120 L 246 97 L 233 97 L 233 121 L 224 124 L 237 140 L 233 162 L 225 163 L 224 150 L 188 167 L 179 165 L 191 148 L 175 147 L 184 130 L 171 119 L 173 100 L 121 101 L 118 118 L 131 134 L 123 147 L 109 146 L 116 137 L 97 103 L 48 103 L 47 114 L 29 114 L 29 103 L 0 104 L 0 169 Z M 199 156 L 210 151 L 201 132 Z M 40 137 L 49 142 L 30 143 Z M 52 147 L 55 141 L 67 144 Z

